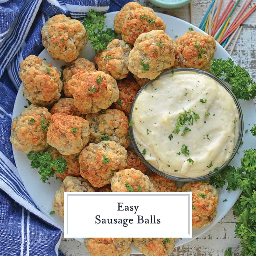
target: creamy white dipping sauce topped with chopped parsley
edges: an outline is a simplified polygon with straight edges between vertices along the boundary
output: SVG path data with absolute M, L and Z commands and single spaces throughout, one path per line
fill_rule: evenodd
M 239 133 L 232 96 L 214 79 L 195 72 L 160 76 L 141 91 L 132 112 L 133 135 L 161 172 L 196 178 L 224 164 Z

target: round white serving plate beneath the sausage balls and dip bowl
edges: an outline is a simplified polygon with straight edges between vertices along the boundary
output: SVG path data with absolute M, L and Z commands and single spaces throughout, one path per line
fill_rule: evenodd
M 111 12 L 106 14 L 107 27 L 113 28 L 113 20 L 116 13 L 117 12 Z M 178 19 L 176 17 L 166 15 L 163 13 L 158 13 L 158 15 L 166 23 L 165 32 L 169 36 L 171 36 L 173 40 L 176 39 L 175 35 L 178 35 L 178 37 L 182 36 L 185 32 L 189 30 L 189 27 L 193 27 L 195 31 L 202 32 L 200 29 L 193 26 L 192 24 L 186 21 L 183 21 L 181 19 Z M 41 57 L 42 59 L 46 58 L 48 62 L 52 62 L 53 66 L 56 66 L 58 69 L 60 69 L 62 65 L 65 65 L 64 61 L 54 60 L 52 56 L 47 52 L 46 49 L 44 49 L 38 56 Z M 81 52 L 79 57 L 84 57 L 93 61 L 94 56 L 95 56 L 95 51 L 91 48 L 90 43 L 88 43 L 86 47 L 83 49 L 83 51 Z M 215 58 L 228 59 L 229 57 L 230 55 L 221 47 L 221 45 L 217 43 L 217 51 L 215 53 Z M 12 118 L 18 116 L 21 113 L 21 111 L 24 108 L 23 107 L 24 105 L 28 105 L 26 98 L 23 96 L 22 86 L 18 91 L 16 100 L 14 103 Z M 252 123 L 253 120 L 256 120 L 254 103 L 252 100 L 250 101 L 239 100 L 239 102 L 241 104 L 241 108 L 244 116 L 244 131 L 246 129 L 250 130 L 253 125 Z M 230 162 L 231 165 L 239 166 L 240 159 L 244 155 L 243 150 L 249 149 L 250 147 L 255 147 L 255 138 L 252 136 L 250 132 L 248 132 L 247 134 L 245 134 L 244 132 L 243 142 L 244 144 L 238 150 L 240 154 L 237 154 L 234 157 L 234 159 Z M 51 178 L 49 179 L 50 184 L 42 183 L 42 181 L 40 181 L 40 175 L 37 173 L 37 170 L 31 169 L 30 161 L 27 159 L 26 154 L 18 151 L 15 148 L 12 148 L 12 149 L 13 149 L 13 155 L 14 155 L 14 159 L 15 159 L 15 163 L 16 163 L 19 175 L 30 197 L 32 198 L 34 203 L 37 205 L 37 207 L 44 214 L 50 216 L 50 218 L 52 218 L 57 225 L 63 227 L 62 218 L 58 217 L 57 214 L 49 215 L 50 211 L 52 211 L 52 201 L 54 198 L 55 191 L 59 189 L 61 181 L 55 180 L 55 178 Z M 176 246 L 184 245 L 196 239 L 197 237 L 203 235 L 215 224 L 217 224 L 225 216 L 225 214 L 232 208 L 234 203 L 237 201 L 238 197 L 240 196 L 240 191 L 226 191 L 225 188 L 223 188 L 223 189 L 219 189 L 219 194 L 220 194 L 220 202 L 217 208 L 218 214 L 215 220 L 212 222 L 212 224 L 209 226 L 204 226 L 200 229 L 193 229 L 193 237 L 183 238 L 182 240 L 179 240 Z M 223 200 L 225 199 L 227 199 L 227 201 L 223 202 Z M 77 240 L 80 242 L 83 242 L 82 238 L 77 238 Z M 138 254 L 139 250 L 136 247 L 133 247 L 132 253 Z

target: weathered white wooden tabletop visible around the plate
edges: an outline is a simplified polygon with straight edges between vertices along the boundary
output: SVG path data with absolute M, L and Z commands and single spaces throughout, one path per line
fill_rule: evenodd
M 245 0 L 241 0 L 244 3 Z M 190 17 L 190 5 L 178 9 L 162 9 L 152 5 L 149 1 L 137 1 L 141 5 L 149 6 L 155 11 L 170 14 L 186 20 L 196 26 L 199 26 L 211 0 L 193 0 L 192 1 L 192 17 Z M 228 0 L 223 1 L 223 10 Z M 254 1 L 252 1 L 254 2 Z M 252 3 L 254 4 L 254 3 Z M 252 4 L 250 6 L 252 6 Z M 236 8 L 238 11 L 239 4 Z M 236 12 L 235 12 L 236 13 Z M 234 14 L 233 14 L 234 15 Z M 243 67 L 256 80 L 256 12 L 243 24 L 243 30 L 236 44 L 232 58 L 235 62 Z M 229 45 L 229 52 L 232 44 Z M 256 120 L 254 120 L 256 122 Z M 189 244 L 180 246 L 175 249 L 173 256 L 223 256 L 226 248 L 232 246 L 232 255 L 241 255 L 240 240 L 236 238 L 234 230 L 237 219 L 230 210 L 227 215 L 216 224 L 211 230 L 203 236 L 195 239 Z M 85 246 L 75 239 L 63 238 L 60 244 L 60 250 L 67 256 L 89 256 Z

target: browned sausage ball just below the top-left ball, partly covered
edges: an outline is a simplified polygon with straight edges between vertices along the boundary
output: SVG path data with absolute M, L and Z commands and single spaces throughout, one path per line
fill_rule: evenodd
M 63 91 L 66 97 L 73 97 L 68 90 L 68 81 L 73 75 L 81 71 L 94 72 L 96 68 L 94 63 L 85 58 L 78 58 L 72 61 L 70 65 L 63 70 Z

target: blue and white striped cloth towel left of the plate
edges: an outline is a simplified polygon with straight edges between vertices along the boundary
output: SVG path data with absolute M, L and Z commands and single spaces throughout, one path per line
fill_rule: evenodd
M 11 116 L 21 84 L 19 64 L 43 50 L 41 28 L 50 16 L 82 19 L 91 9 L 118 11 L 127 0 L 0 0 L 0 256 L 63 255 L 62 230 L 42 214 L 20 180 L 13 159 Z

